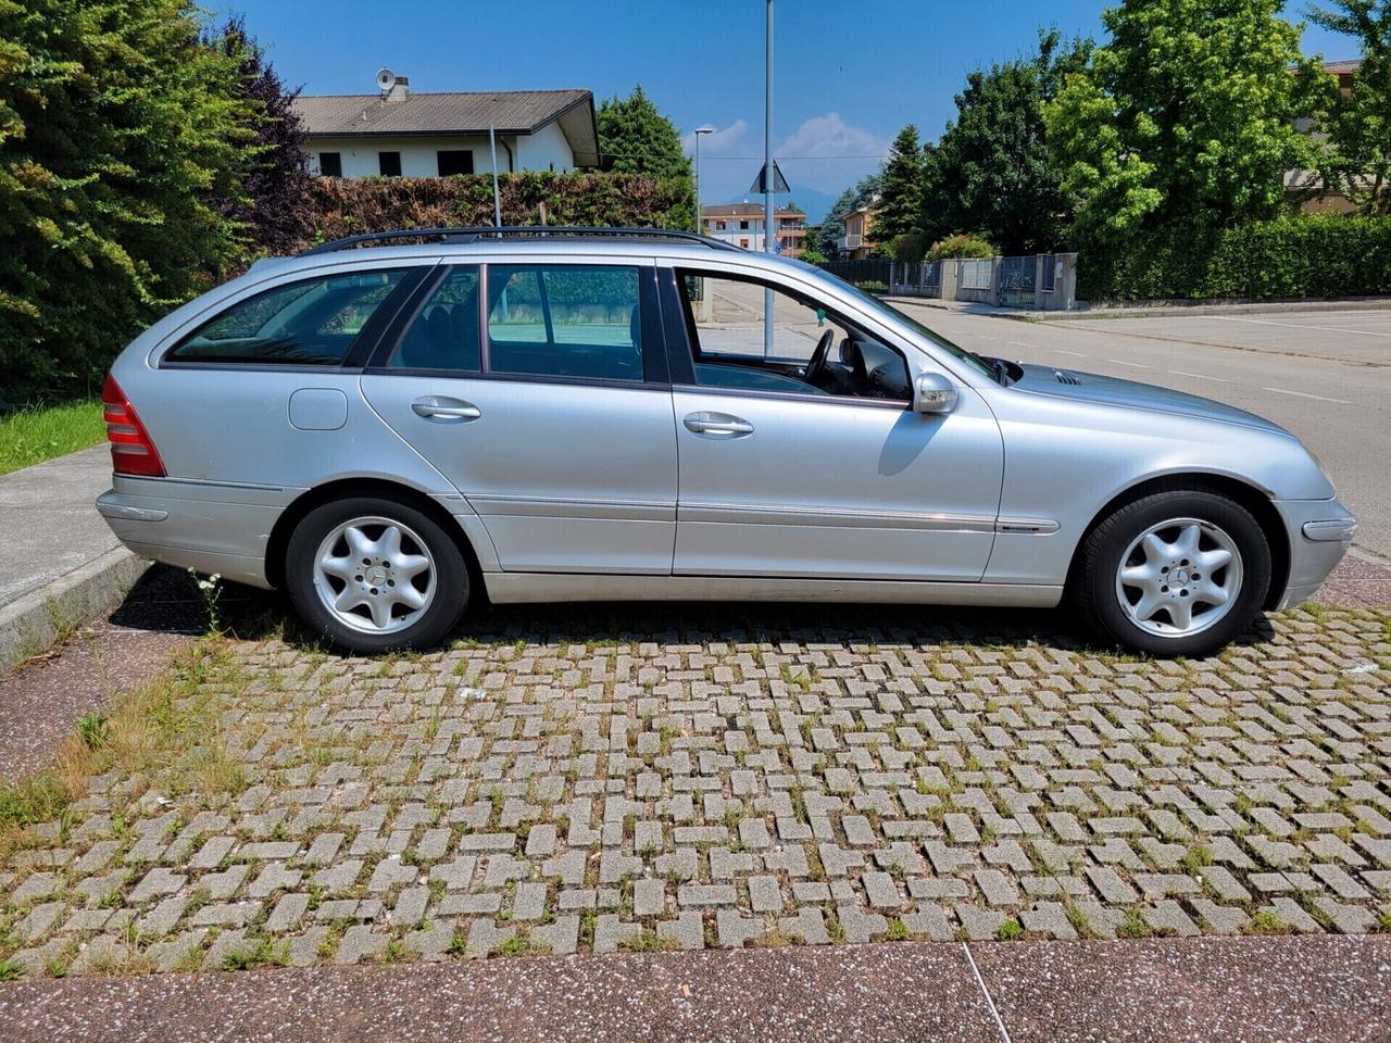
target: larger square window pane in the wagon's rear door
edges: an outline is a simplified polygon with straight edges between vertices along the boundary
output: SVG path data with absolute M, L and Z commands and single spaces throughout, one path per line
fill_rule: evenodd
M 643 380 L 637 268 L 488 267 L 492 373 Z

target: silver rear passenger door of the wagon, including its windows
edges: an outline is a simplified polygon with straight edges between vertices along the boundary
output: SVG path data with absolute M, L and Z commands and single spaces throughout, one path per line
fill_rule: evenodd
M 363 394 L 463 494 L 499 566 L 668 574 L 676 434 L 651 264 L 455 266 L 408 312 Z

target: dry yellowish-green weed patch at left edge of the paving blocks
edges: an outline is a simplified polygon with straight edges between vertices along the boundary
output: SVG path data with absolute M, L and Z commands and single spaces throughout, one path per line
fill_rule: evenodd
M 199 641 L 166 676 L 117 695 L 100 725 L 85 718 L 50 765 L 0 782 L 0 854 L 38 822 L 63 825 L 95 775 L 143 776 L 167 797 L 239 793 L 245 770 L 227 755 L 218 723 L 224 693 L 238 677 L 216 641 Z

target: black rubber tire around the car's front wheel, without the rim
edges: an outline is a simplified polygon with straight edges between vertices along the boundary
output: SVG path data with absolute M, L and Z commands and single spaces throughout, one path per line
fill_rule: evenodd
M 1170 519 L 1195 519 L 1216 526 L 1241 553 L 1241 587 L 1231 608 L 1191 634 L 1161 636 L 1136 626 L 1116 588 L 1121 555 L 1148 528 Z M 1270 588 L 1270 542 L 1249 510 L 1216 492 L 1167 490 L 1117 508 L 1086 534 L 1068 594 L 1081 619 L 1106 644 L 1157 656 L 1202 656 L 1227 645 L 1251 626 Z

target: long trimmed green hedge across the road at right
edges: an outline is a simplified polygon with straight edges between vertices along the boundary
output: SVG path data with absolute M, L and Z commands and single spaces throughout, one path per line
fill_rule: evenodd
M 1299 214 L 1163 228 L 1078 256 L 1084 300 L 1391 295 L 1391 217 Z

